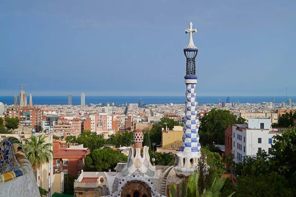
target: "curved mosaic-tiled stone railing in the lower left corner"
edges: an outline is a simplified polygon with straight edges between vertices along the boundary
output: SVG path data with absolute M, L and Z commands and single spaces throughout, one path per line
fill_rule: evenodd
M 0 161 L 0 196 L 40 197 L 32 166 L 17 138 L 0 142 Z

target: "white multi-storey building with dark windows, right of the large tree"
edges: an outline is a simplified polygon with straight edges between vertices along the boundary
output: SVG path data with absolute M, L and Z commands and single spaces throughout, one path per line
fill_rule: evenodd
M 245 156 L 256 156 L 258 151 L 271 153 L 272 136 L 281 134 L 271 129 L 270 118 L 249 118 L 249 125 L 232 125 L 232 153 L 238 163 Z

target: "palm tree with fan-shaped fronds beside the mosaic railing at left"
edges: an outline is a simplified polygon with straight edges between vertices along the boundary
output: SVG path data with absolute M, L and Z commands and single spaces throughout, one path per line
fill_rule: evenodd
M 53 154 L 52 143 L 46 142 L 45 138 L 45 135 L 31 135 L 29 139 L 24 139 L 24 151 L 36 175 L 37 169 L 40 169 L 42 164 L 49 163 Z

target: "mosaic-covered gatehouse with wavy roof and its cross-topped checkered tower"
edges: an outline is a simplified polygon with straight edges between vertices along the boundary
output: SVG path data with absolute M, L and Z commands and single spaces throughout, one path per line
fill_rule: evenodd
M 198 49 L 193 44 L 192 34 L 196 29 L 189 29 L 189 42 L 184 48 L 186 57 L 186 100 L 185 125 L 181 150 L 176 154 L 175 164 L 163 173 L 158 173 L 150 163 L 148 147 L 142 147 L 143 133 L 134 133 L 134 148 L 130 147 L 128 161 L 122 171 L 116 176 L 107 176 L 108 197 L 166 197 L 172 184 L 180 185 L 184 177 L 188 177 L 196 169 L 201 156 L 198 142 L 198 126 L 196 125 L 196 92 L 197 76 L 195 75 L 195 58 Z

